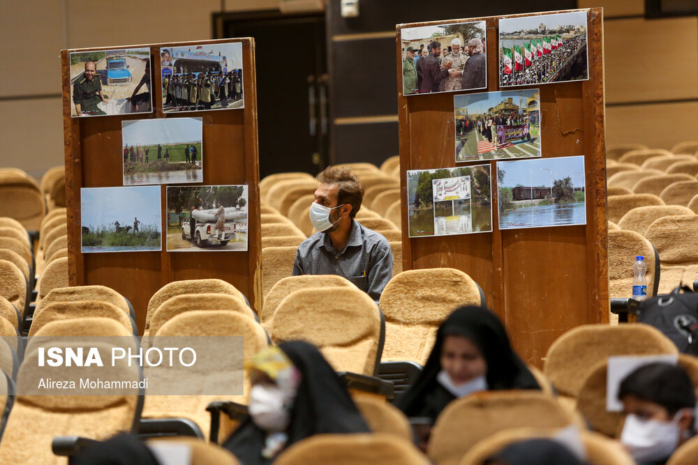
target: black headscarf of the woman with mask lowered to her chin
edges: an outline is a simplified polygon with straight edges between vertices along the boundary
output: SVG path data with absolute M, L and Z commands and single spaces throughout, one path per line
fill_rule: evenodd
M 408 417 L 436 416 L 456 397 L 437 381 L 441 371 L 441 349 L 447 336 L 463 336 L 472 341 L 487 362 L 489 390 L 540 389 L 533 374 L 514 353 L 507 331 L 495 314 L 484 307 L 460 307 L 441 323 L 429 359 L 422 373 L 400 397 L 396 406 Z

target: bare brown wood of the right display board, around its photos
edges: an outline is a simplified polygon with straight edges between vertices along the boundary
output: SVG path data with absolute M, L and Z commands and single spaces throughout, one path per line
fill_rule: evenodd
M 452 267 L 468 273 L 484 290 L 488 307 L 505 321 L 521 357 L 539 367 L 565 331 L 609 319 L 602 9 L 584 11 L 589 79 L 560 84 L 499 86 L 498 20 L 538 13 L 397 26 L 401 76 L 401 29 L 487 23 L 487 89 L 399 95 L 400 166 L 406 206 L 406 171 L 489 163 L 493 213 L 491 233 L 410 238 L 408 208 L 403 207 L 403 268 Z M 398 88 L 403 88 L 401 77 Z M 534 88 L 540 89 L 542 158 L 584 155 L 586 225 L 500 230 L 496 161 L 454 162 L 454 95 Z

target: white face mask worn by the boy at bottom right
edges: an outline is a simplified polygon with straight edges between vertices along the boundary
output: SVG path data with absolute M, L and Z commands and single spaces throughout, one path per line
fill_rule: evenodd
M 664 460 L 678 445 L 679 418 L 681 411 L 671 421 L 641 420 L 630 413 L 625 417 L 621 444 L 628 448 L 632 458 L 639 463 Z

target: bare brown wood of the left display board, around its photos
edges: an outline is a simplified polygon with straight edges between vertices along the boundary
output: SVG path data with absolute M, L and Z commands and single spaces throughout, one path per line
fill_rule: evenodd
M 242 43 L 244 109 L 168 113 L 162 109 L 161 47 L 196 47 L 205 44 Z M 71 118 L 70 52 L 149 47 L 154 112 Z M 260 301 L 260 212 L 253 38 L 162 43 L 128 47 L 101 47 L 61 51 L 63 116 L 68 208 L 68 268 L 70 285 L 102 284 L 120 292 L 135 310 L 142 333 L 148 302 L 158 289 L 172 281 L 220 278 L 233 284 L 255 306 Z M 197 185 L 248 185 L 247 252 L 167 252 L 167 209 L 161 185 L 163 242 L 161 252 L 81 252 L 80 189 L 123 185 L 121 121 L 180 116 L 203 119 L 205 147 L 203 181 Z

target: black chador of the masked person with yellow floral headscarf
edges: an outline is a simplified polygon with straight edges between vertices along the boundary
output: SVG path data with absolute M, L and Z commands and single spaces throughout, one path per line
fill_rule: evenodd
M 370 432 L 334 369 L 315 346 L 290 341 L 280 344 L 279 349 L 301 376 L 291 410 L 285 448 L 314 434 Z M 267 367 L 271 370 L 278 368 L 273 363 L 267 364 Z M 223 447 L 244 465 L 270 464 L 273 458 L 265 459 L 261 455 L 265 436 L 266 433 L 248 417 L 223 443 Z

